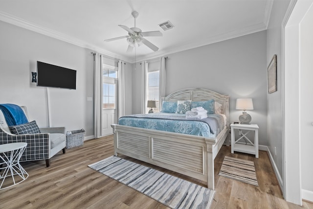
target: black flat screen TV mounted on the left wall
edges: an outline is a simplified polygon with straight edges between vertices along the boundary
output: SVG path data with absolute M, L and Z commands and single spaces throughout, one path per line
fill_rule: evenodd
M 76 70 L 37 61 L 37 86 L 76 89 Z

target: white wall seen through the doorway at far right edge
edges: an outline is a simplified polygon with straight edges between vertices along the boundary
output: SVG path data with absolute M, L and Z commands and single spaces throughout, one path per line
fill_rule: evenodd
M 300 26 L 300 133 L 302 198 L 313 201 L 313 8 Z

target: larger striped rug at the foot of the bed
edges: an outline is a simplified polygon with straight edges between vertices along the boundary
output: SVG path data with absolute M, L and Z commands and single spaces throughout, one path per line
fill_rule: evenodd
M 214 190 L 115 156 L 88 166 L 172 209 L 209 209 L 215 194 Z

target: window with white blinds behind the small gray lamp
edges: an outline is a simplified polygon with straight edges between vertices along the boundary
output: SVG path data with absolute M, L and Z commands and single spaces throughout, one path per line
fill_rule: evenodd
M 159 107 L 159 79 L 160 79 L 159 70 L 148 72 L 148 100 L 156 101 L 156 108 L 154 108 L 155 113 L 160 112 L 158 108 Z M 150 108 L 148 109 L 150 110 Z

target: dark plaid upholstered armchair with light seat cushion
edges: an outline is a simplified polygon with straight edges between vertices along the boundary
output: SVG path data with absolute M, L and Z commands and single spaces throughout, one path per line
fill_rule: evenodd
M 28 119 L 27 109 L 21 106 Z M 29 121 L 29 120 L 28 120 Z M 31 130 L 35 134 L 23 134 Z M 66 148 L 65 127 L 38 128 L 36 121 L 17 126 L 8 126 L 0 109 L 0 144 L 26 142 L 27 146 L 20 161 L 45 160 L 50 166 L 50 159 Z

